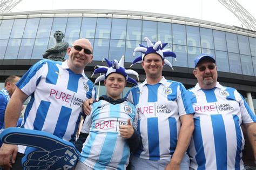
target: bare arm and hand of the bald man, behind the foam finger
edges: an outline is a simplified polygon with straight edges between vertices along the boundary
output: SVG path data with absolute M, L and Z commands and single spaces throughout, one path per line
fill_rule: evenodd
M 26 96 L 25 93 L 16 88 L 6 107 L 4 118 L 5 128 L 17 126 L 17 121 L 22 110 L 22 105 L 27 98 L 28 96 Z M 0 149 L 0 165 L 5 165 L 11 168 L 12 166 L 10 161 L 12 164 L 15 163 L 17 151 L 17 145 L 3 144 Z

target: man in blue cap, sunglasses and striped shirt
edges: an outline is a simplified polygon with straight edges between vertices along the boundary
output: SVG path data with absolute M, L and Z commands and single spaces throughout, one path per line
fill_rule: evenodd
M 195 111 L 190 168 L 244 169 L 241 152 L 245 141 L 241 124 L 254 144 L 256 155 L 256 117 L 237 90 L 219 84 L 212 55 L 199 55 L 194 66 L 198 83 L 188 90 Z

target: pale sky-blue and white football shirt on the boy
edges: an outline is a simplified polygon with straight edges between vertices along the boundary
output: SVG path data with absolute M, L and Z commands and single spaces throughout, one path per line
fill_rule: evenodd
M 93 103 L 81 131 L 90 133 L 79 161 L 93 169 L 126 169 L 130 148 L 127 139 L 120 136 L 119 126 L 127 125 L 129 118 L 137 130 L 138 114 L 128 101 L 115 105 L 106 100 Z

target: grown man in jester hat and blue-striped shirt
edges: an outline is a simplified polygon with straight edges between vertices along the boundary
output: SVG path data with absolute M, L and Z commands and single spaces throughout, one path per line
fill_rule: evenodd
M 142 61 L 145 81 L 127 93 L 127 100 L 138 111 L 138 130 L 142 145 L 130 159 L 131 169 L 188 169 L 186 149 L 194 130 L 193 107 L 183 84 L 162 76 L 165 57 L 176 58 L 167 43 L 152 43 L 145 38 L 134 52 L 142 52 L 133 64 Z

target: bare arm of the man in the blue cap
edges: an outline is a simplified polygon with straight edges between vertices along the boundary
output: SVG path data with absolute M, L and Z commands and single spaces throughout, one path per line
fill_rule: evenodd
M 244 127 L 246 129 L 249 141 L 253 149 L 254 162 L 255 162 L 256 161 L 256 123 L 244 124 Z

